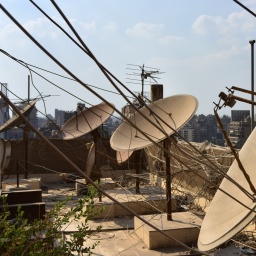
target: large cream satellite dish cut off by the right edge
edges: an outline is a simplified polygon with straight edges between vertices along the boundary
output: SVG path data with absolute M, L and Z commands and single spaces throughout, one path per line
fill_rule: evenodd
M 249 175 L 252 184 L 256 184 L 256 128 L 245 142 L 239 152 L 239 158 Z M 253 195 L 250 186 L 235 160 L 229 168 L 227 175 L 235 180 L 241 187 Z M 210 204 L 203 220 L 198 248 L 209 251 L 231 239 L 255 218 L 255 205 L 235 184 L 224 178 L 220 188 L 229 195 L 233 195 L 239 202 L 249 207 L 245 208 L 239 202 L 218 190 Z

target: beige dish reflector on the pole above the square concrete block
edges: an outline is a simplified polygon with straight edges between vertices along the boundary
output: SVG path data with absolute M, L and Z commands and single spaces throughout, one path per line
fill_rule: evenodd
M 160 129 L 164 130 L 168 135 L 174 133 L 170 128 L 178 130 L 194 115 L 198 107 L 198 101 L 191 95 L 175 95 L 170 96 L 154 103 L 147 107 L 143 107 L 140 111 L 154 122 Z M 164 124 L 158 116 L 164 120 L 169 127 Z M 138 112 L 129 117 L 129 120 L 140 130 L 146 133 L 154 142 L 159 142 L 165 139 L 158 128 L 149 123 Z M 132 127 L 127 122 L 122 122 L 115 130 L 110 139 L 110 145 L 116 151 L 137 150 L 152 144 L 144 135 Z

